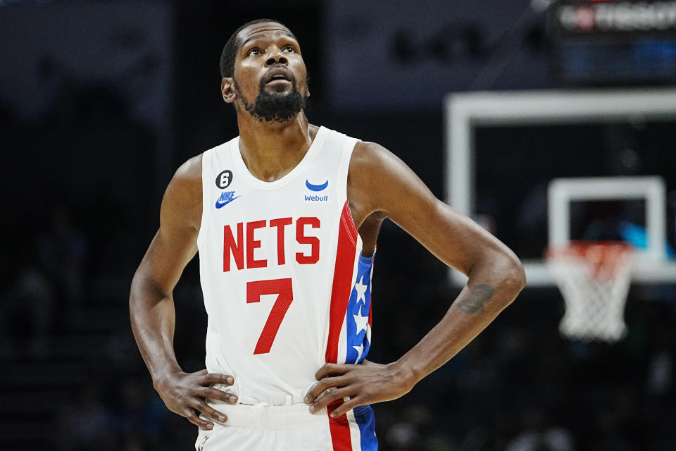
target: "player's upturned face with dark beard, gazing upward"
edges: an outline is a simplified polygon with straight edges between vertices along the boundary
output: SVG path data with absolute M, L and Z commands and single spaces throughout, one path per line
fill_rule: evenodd
M 232 78 L 242 107 L 268 122 L 299 113 L 309 94 L 307 70 L 291 32 L 278 23 L 257 23 L 239 32 L 239 43 Z

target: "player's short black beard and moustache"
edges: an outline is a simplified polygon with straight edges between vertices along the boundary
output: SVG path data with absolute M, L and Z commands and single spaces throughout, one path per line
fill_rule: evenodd
M 234 89 L 239 100 L 242 101 L 244 109 L 249 111 L 249 114 L 258 121 L 286 122 L 304 109 L 307 101 L 307 97 L 302 96 L 296 88 L 296 78 L 292 78 L 291 84 L 291 92 L 267 92 L 265 91 L 265 82 L 261 79 L 261 84 L 258 87 L 259 94 L 253 104 L 249 104 L 244 99 L 236 80 L 234 80 Z

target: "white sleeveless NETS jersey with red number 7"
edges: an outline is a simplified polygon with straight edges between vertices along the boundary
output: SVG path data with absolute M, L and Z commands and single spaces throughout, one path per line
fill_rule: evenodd
M 239 137 L 204 152 L 206 368 L 232 374 L 242 404 L 303 402 L 323 364 L 368 353 L 373 259 L 347 203 L 356 142 L 322 127 L 274 182 L 249 173 Z

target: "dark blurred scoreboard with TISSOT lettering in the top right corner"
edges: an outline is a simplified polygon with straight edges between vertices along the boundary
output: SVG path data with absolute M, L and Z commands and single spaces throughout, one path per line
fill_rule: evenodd
M 555 1 L 547 29 L 564 83 L 676 82 L 676 0 Z

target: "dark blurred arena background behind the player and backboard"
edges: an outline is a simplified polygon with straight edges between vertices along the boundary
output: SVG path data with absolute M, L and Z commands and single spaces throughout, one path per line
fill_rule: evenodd
M 653 27 L 649 13 L 625 14 L 613 28 L 580 3 L 0 0 L 0 449 L 192 449 L 194 426 L 152 387 L 127 299 L 173 171 L 237 134 L 218 90 L 235 28 L 287 24 L 311 77 L 311 122 L 379 142 L 444 198 L 446 94 L 674 87 L 676 15 Z M 582 9 L 556 23 L 561 6 Z M 676 244 L 675 121 L 484 128 L 476 140 L 477 220 L 521 256 L 542 253 L 536 175 L 553 166 L 661 175 Z M 618 208 L 587 211 L 587 223 Z M 390 222 L 374 283 L 369 359 L 383 363 L 459 292 Z M 634 285 L 625 338 L 585 343 L 558 333 L 556 288 L 526 288 L 449 364 L 374 406 L 381 449 L 676 449 L 675 299 L 672 282 Z M 177 356 L 196 371 L 206 329 L 196 261 L 175 302 Z

